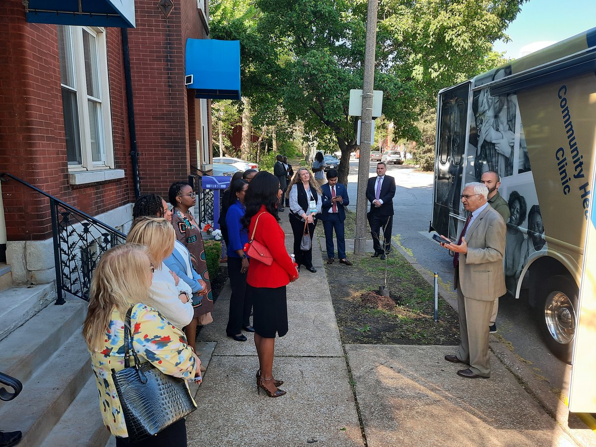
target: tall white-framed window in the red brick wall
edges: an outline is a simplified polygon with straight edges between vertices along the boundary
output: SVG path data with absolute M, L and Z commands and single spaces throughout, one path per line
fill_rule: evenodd
M 105 31 L 58 26 L 58 51 L 69 170 L 113 169 Z

